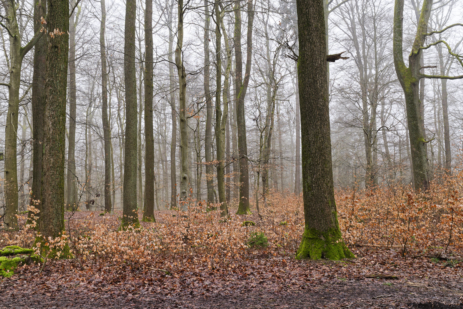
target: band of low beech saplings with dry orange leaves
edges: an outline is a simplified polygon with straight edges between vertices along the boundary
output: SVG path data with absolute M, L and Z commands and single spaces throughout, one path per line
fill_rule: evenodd
M 409 186 L 380 185 L 368 190 L 339 189 L 338 219 L 349 246 L 447 251 L 463 248 L 461 175 L 441 178 L 430 192 L 416 193 Z M 50 240 L 69 244 L 75 258 L 103 259 L 132 267 L 168 271 L 236 268 L 261 254 L 294 256 L 304 230 L 302 195 L 271 192 L 261 213 L 232 215 L 225 222 L 219 210 L 190 207 L 188 214 L 156 212 L 156 222 L 118 230 L 120 213 L 95 216 L 77 212 L 66 222 L 67 237 Z M 234 213 L 234 211 L 231 211 Z M 23 218 L 24 222 L 25 218 Z M 244 226 L 252 220 L 255 226 Z M 68 231 L 69 229 L 69 231 Z M 252 232 L 263 232 L 269 247 L 250 248 Z M 32 246 L 37 234 L 31 227 L 3 234 L 1 244 Z M 46 258 L 46 257 L 45 257 Z

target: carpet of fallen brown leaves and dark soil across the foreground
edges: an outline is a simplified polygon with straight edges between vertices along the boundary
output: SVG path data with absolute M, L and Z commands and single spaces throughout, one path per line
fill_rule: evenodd
M 263 248 L 235 269 L 173 273 L 100 259 L 50 260 L 1 279 L 0 309 L 463 308 L 460 252 L 449 261 L 413 252 L 404 258 L 395 249 L 356 252 L 357 259 L 311 261 Z

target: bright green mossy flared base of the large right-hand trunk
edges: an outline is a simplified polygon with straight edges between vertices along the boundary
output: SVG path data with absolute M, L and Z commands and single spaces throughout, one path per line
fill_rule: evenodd
M 296 259 L 332 259 L 354 258 L 344 244 L 339 229 L 333 228 L 326 233 L 305 228 Z

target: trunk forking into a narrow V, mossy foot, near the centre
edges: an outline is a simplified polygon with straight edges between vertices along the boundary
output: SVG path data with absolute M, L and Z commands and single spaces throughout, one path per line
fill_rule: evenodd
M 248 1 L 248 30 L 246 69 L 243 73 L 243 57 L 241 52 L 241 11 L 239 1 L 235 4 L 235 87 L 236 87 L 236 114 L 238 129 L 238 156 L 239 156 L 239 205 L 237 214 L 247 214 L 249 209 L 249 169 L 248 169 L 248 146 L 246 141 L 246 120 L 244 116 L 244 97 L 248 88 L 251 60 L 252 60 L 252 28 L 254 22 L 254 9 L 252 0 Z

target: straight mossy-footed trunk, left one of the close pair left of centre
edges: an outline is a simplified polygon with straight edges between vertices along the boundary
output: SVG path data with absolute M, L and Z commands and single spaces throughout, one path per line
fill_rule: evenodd
M 136 0 L 125 5 L 125 154 L 124 154 L 124 204 L 122 226 L 138 227 L 137 213 L 137 78 L 135 72 L 135 20 Z

